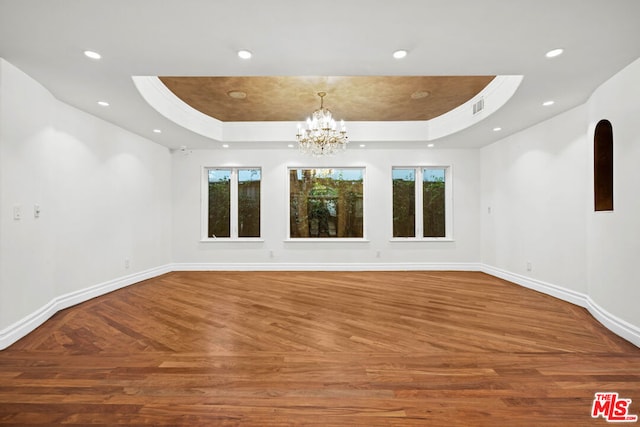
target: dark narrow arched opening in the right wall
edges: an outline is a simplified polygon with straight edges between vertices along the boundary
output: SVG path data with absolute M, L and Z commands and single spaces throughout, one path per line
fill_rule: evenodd
M 613 210 L 613 127 L 600 120 L 593 136 L 593 198 L 596 211 Z

